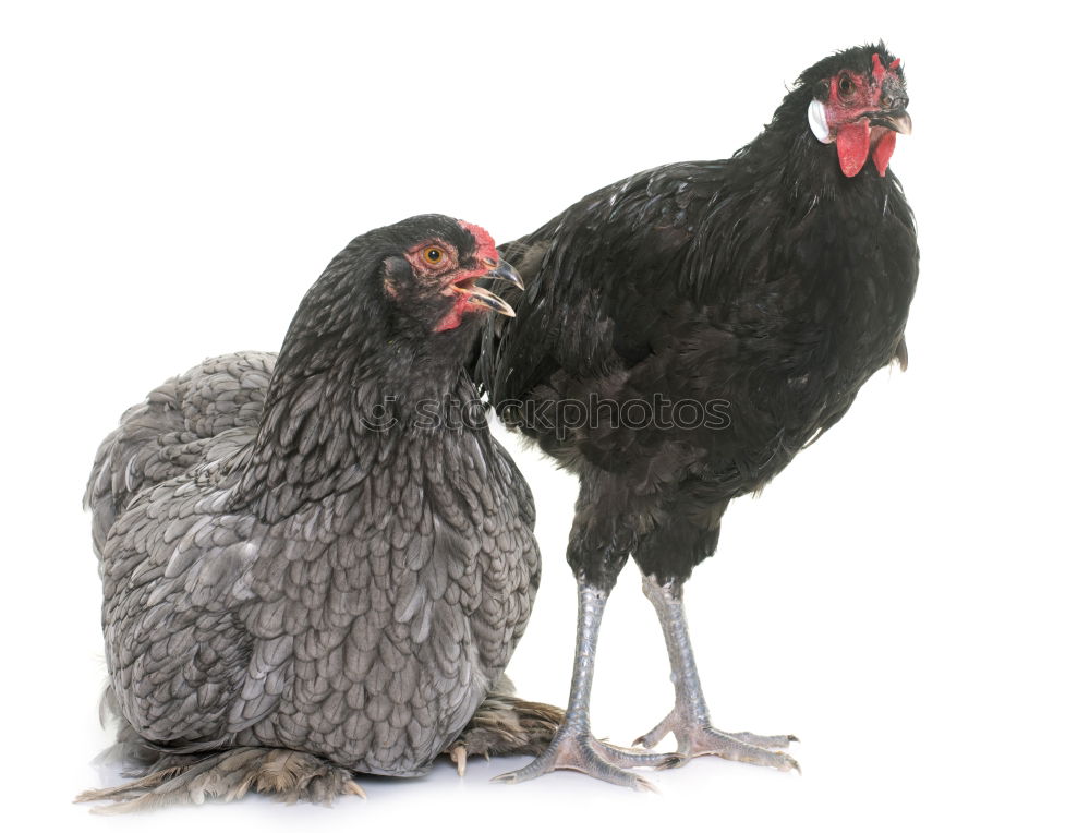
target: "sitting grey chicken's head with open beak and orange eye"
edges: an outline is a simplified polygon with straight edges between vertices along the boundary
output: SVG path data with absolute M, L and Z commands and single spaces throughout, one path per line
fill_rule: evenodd
M 514 315 L 510 304 L 476 283 L 497 278 L 522 288 L 519 274 L 480 226 L 428 214 L 372 233 L 384 248 L 382 291 L 399 316 L 444 333 L 485 310 Z

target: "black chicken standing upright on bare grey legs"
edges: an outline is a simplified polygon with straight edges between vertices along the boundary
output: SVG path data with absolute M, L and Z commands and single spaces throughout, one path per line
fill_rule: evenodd
M 505 421 L 580 479 L 568 716 L 508 781 L 564 768 L 643 787 L 623 768 L 699 754 L 796 766 L 775 751 L 790 735 L 712 727 L 681 591 L 714 552 L 727 504 L 834 425 L 876 370 L 907 361 L 919 254 L 887 171 L 907 105 L 884 45 L 834 55 L 732 158 L 638 173 L 502 248 L 528 288 L 518 317 L 484 331 L 475 373 Z M 637 743 L 673 732 L 674 757 L 590 734 L 598 624 L 629 555 L 676 689 L 674 710 Z

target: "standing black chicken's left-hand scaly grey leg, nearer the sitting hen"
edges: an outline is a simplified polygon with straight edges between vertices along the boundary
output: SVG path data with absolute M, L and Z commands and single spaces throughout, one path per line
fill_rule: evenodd
M 589 704 L 591 683 L 594 678 L 594 652 L 598 641 L 598 627 L 609 593 L 579 582 L 579 631 L 576 662 L 571 675 L 571 695 L 568 711 L 556 737 L 548 748 L 529 765 L 496 777 L 508 784 L 518 784 L 555 770 L 577 770 L 610 784 L 633 789 L 653 789 L 651 782 L 631 772 L 627 766 L 676 766 L 680 759 L 673 754 L 632 752 L 604 744 L 591 735 Z

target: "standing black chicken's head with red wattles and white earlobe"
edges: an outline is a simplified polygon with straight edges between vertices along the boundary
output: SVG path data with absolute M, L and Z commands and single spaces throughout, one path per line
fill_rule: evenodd
M 898 133 L 911 133 L 905 70 L 885 44 L 837 52 L 799 77 L 810 97 L 810 130 L 836 143 L 840 170 L 855 177 L 868 159 L 885 176 Z

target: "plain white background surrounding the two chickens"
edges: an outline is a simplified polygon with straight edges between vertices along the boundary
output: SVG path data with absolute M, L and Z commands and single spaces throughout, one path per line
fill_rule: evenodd
M 0 19 L 4 814 L 65 829 L 1086 830 L 1087 56 L 1049 3 L 4 4 Z M 421 212 L 536 228 L 653 165 L 718 158 L 835 49 L 886 38 L 916 134 L 907 374 L 725 518 L 688 588 L 726 729 L 794 732 L 799 777 L 713 759 L 637 795 L 521 761 L 365 780 L 332 810 L 102 820 L 69 804 L 105 679 L 80 497 L 120 412 L 206 355 L 276 349 L 353 236 Z M 509 436 L 508 446 L 516 445 Z M 533 451 L 545 577 L 511 673 L 565 701 L 574 481 Z M 634 568 L 593 725 L 669 708 Z M 106 777 L 110 774 L 107 773 Z

